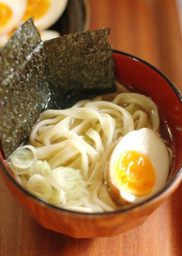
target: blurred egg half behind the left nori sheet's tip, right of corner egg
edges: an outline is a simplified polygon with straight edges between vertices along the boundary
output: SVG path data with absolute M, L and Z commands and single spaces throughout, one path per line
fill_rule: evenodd
M 22 21 L 34 16 L 39 30 L 52 26 L 66 9 L 68 0 L 27 0 L 27 9 Z

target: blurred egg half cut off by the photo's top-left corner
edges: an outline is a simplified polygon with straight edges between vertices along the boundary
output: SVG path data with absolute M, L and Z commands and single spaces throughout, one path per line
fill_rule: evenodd
M 0 35 L 19 24 L 27 8 L 27 0 L 0 0 Z

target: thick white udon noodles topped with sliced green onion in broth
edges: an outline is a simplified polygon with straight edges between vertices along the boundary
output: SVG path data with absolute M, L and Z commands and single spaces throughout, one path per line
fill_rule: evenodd
M 27 190 L 51 204 L 80 212 L 113 211 L 125 205 L 107 183 L 113 148 L 130 131 L 158 132 L 159 125 L 157 106 L 138 93 L 82 100 L 69 109 L 43 112 L 22 147 L 31 152 L 32 162 L 17 168 L 12 155 L 8 165 Z

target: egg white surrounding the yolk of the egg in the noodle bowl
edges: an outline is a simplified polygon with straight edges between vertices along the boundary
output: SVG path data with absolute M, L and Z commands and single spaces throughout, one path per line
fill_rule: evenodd
M 152 192 L 146 196 L 136 196 L 124 190 L 122 185 L 116 184 L 113 178 L 113 162 L 116 157 L 126 151 L 138 151 L 143 153 L 149 159 L 155 170 L 155 185 Z M 169 174 L 169 153 L 166 145 L 158 133 L 149 128 L 131 131 L 126 134 L 113 150 L 109 164 L 109 185 L 113 192 L 120 195 L 124 201 L 140 203 L 157 194 L 166 184 Z

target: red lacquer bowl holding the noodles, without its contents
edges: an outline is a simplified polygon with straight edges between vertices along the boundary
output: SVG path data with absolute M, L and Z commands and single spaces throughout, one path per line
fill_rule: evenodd
M 175 159 L 164 189 L 138 206 L 109 213 L 79 213 L 47 204 L 21 187 L 10 175 L 1 156 L 1 175 L 18 202 L 41 226 L 76 238 L 112 237 L 140 226 L 178 187 L 182 179 L 182 97 L 175 85 L 158 69 L 124 52 L 113 52 L 116 79 L 149 95 L 157 103 L 173 137 Z M 162 126 L 162 132 L 166 133 Z M 163 159 L 161 159 L 163 161 Z

